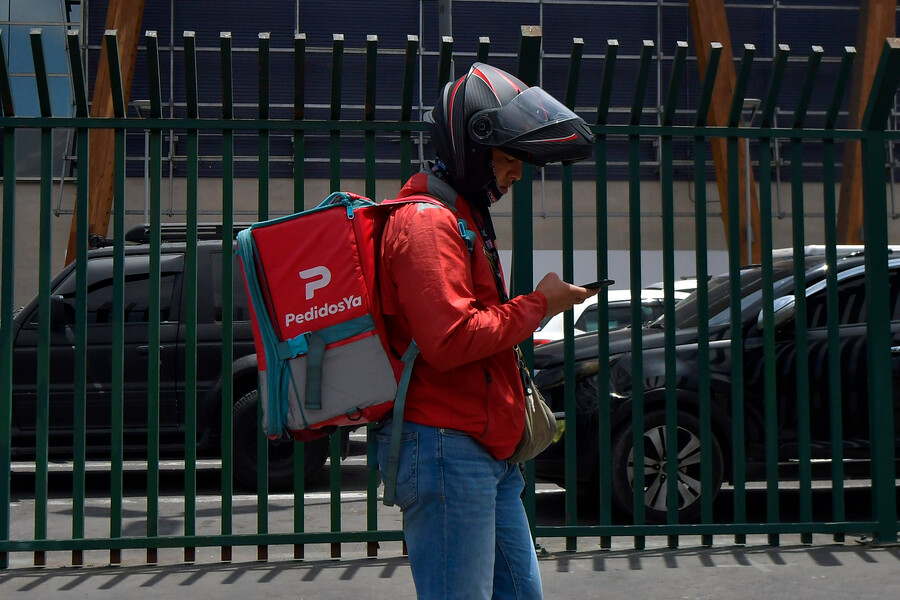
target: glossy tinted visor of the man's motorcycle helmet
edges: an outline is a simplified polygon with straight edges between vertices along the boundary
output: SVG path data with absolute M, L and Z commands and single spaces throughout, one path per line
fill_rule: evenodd
M 476 141 L 503 146 L 522 135 L 571 119 L 580 117 L 541 88 L 530 87 L 506 106 L 475 113 L 469 127 Z

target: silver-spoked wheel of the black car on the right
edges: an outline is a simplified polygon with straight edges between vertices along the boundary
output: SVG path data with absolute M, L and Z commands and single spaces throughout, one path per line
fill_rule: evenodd
M 665 523 L 668 501 L 666 482 L 666 413 L 649 411 L 644 418 L 644 506 L 648 523 Z M 712 488 L 715 498 L 722 486 L 722 449 L 712 436 Z M 700 517 L 700 423 L 685 412 L 678 413 L 678 520 L 690 523 Z M 634 446 L 631 426 L 624 427 L 612 445 L 612 492 L 616 506 L 633 513 Z

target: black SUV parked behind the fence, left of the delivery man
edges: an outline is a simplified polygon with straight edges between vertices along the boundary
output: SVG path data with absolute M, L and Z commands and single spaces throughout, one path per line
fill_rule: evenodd
M 182 231 L 179 233 L 179 229 Z M 177 240 L 180 237 L 181 241 Z M 147 452 L 148 355 L 150 324 L 150 245 L 146 230 L 137 227 L 126 239 L 124 283 L 124 448 L 129 456 Z M 160 248 L 160 380 L 159 441 L 163 456 L 184 456 L 185 441 L 185 243 L 183 226 L 164 228 Z M 230 257 L 229 257 L 230 258 Z M 221 440 L 222 363 L 222 242 L 221 232 L 201 232 L 197 247 L 197 440 L 198 452 L 218 456 Z M 112 409 L 113 252 L 99 248 L 87 261 L 87 408 L 86 450 L 89 458 L 108 458 Z M 234 269 L 233 398 L 225 410 L 233 413 L 235 480 L 256 487 L 257 364 L 250 310 L 239 267 Z M 50 364 L 37 372 L 38 299 L 19 310 L 13 324 L 12 453 L 35 454 L 37 381 L 49 378 L 49 447 L 51 457 L 72 456 L 75 382 L 75 264 L 51 283 Z M 306 478 L 321 470 L 328 456 L 328 439 L 307 444 Z M 269 481 L 284 488 L 293 481 L 293 442 L 269 443 Z

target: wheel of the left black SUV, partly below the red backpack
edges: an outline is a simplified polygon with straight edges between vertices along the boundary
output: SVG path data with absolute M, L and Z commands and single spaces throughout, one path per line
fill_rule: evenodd
M 234 479 L 247 489 L 256 489 L 256 444 L 260 428 L 258 413 L 259 394 L 256 390 L 241 396 L 232 408 L 234 432 Z M 294 486 L 294 442 L 293 440 L 269 440 L 269 488 L 284 491 Z M 306 442 L 307 483 L 315 479 L 325 466 L 328 458 L 328 438 L 323 437 Z

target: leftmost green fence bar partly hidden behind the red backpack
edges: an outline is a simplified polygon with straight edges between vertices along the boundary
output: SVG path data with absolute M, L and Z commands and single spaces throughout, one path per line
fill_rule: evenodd
M 269 34 L 259 34 L 259 120 L 269 118 Z M 257 218 L 269 218 L 269 130 L 260 128 Z M 262 423 L 262 398 L 257 401 L 257 422 Z M 269 533 L 269 440 L 262 427 L 256 428 L 256 532 Z M 256 559 L 269 558 L 266 544 L 256 546 Z

